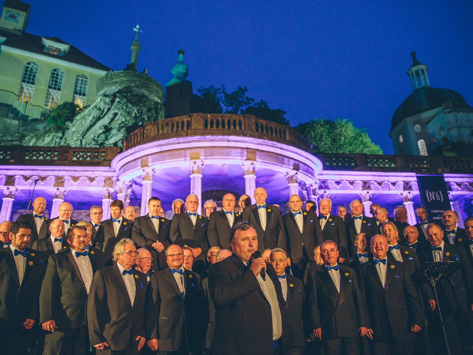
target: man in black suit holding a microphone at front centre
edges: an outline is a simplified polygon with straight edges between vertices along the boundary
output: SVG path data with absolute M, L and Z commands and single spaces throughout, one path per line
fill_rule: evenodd
M 230 231 L 230 247 L 233 255 L 209 270 L 210 297 L 217 310 L 210 352 L 282 354 L 292 346 L 293 335 L 274 268 L 261 256 L 254 259 L 258 236 L 253 226 L 237 223 Z

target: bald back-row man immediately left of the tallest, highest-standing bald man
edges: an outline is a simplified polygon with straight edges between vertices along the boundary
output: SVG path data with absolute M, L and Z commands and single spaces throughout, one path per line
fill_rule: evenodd
M 223 196 L 220 211 L 214 211 L 209 216 L 209 227 L 207 228 L 207 238 L 210 247 L 220 247 L 230 249 L 228 236 L 233 226 L 241 221 L 241 213 L 235 212 L 235 196 L 227 194 Z

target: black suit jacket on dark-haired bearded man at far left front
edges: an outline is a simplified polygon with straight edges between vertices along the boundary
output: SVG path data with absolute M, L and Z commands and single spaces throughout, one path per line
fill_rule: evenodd
M 23 323 L 26 319 L 37 321 L 39 288 L 45 266 L 44 253 L 28 249 L 25 274 L 20 285 L 11 249 L 0 249 L 0 329 L 25 329 Z M 8 352 L 6 349 L 3 351 Z

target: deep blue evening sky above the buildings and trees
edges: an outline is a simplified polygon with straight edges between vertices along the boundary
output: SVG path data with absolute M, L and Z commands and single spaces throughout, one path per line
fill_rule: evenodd
M 386 154 L 396 107 L 412 92 L 411 51 L 433 87 L 473 106 L 473 2 L 458 1 L 28 1 L 27 32 L 58 36 L 113 69 L 130 61 L 140 24 L 138 69 L 161 85 L 185 50 L 188 79 L 248 87 L 287 111 L 291 125 L 349 118 Z

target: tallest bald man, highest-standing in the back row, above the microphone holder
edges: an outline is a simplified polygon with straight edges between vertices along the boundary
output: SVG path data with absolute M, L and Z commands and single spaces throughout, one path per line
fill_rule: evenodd
M 287 250 L 286 233 L 279 207 L 266 203 L 266 190 L 257 187 L 254 190 L 256 204 L 246 206 L 242 213 L 242 221 L 253 225 L 258 235 L 258 250 L 274 249 Z

